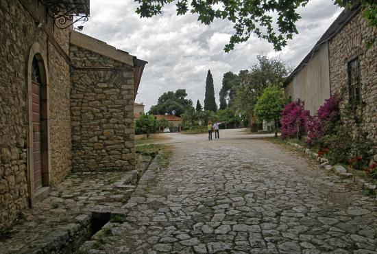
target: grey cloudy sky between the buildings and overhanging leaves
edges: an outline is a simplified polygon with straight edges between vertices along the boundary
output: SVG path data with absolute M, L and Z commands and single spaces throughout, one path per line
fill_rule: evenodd
M 280 57 L 295 67 L 341 12 L 333 1 L 311 0 L 300 9 L 300 34 L 283 51 L 276 52 L 266 41 L 252 37 L 227 54 L 223 46 L 233 33 L 228 21 L 202 25 L 193 14 L 176 16 L 175 5 L 165 7 L 160 16 L 140 19 L 136 7 L 132 0 L 91 0 L 90 19 L 82 32 L 149 62 L 136 96 L 146 111 L 162 93 L 176 89 L 186 89 L 194 106 L 198 99 L 203 105 L 208 69 L 218 102 L 223 73 L 247 69 L 258 54 Z

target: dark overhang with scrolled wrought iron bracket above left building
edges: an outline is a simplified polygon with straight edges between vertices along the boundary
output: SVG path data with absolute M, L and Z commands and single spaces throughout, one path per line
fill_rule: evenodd
M 85 23 L 89 17 L 89 0 L 40 0 L 56 27 L 66 29 L 76 22 Z

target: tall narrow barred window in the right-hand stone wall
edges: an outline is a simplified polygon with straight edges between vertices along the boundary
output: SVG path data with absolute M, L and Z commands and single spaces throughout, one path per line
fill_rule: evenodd
M 360 62 L 358 57 L 348 62 L 348 95 L 350 103 L 361 102 Z

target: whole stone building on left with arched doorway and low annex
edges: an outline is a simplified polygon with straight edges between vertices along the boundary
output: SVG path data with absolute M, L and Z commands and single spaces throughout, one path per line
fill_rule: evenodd
M 0 1 L 0 229 L 71 170 L 134 166 L 146 62 L 73 32 L 88 15 L 88 0 Z

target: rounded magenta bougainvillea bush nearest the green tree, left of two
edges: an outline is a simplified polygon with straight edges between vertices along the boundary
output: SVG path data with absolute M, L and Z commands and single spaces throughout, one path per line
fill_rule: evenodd
M 309 111 L 304 108 L 304 102 L 300 99 L 285 105 L 281 115 L 282 138 L 300 138 L 305 132 L 306 121 L 311 118 Z

